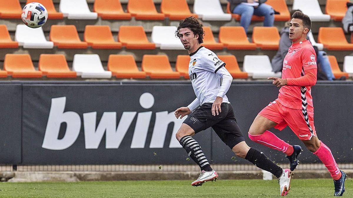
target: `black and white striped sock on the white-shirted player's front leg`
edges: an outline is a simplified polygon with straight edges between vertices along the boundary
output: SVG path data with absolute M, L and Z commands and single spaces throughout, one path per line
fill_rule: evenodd
M 181 146 L 183 146 L 183 148 L 186 150 L 187 154 L 191 157 L 191 159 L 199 165 L 201 171 L 213 170 L 210 166 L 210 163 L 208 163 L 205 154 L 203 154 L 199 143 L 197 143 L 194 138 L 192 138 L 190 135 L 187 135 L 182 137 L 179 143 L 181 144 Z

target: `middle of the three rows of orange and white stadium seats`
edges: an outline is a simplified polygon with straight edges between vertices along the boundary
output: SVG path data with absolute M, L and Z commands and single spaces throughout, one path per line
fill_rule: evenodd
M 15 42 L 11 40 L 6 25 L 0 25 L 0 48 L 23 48 L 51 49 L 58 48 L 84 49 L 91 46 L 94 49 L 155 49 L 162 50 L 184 50 L 183 45 L 174 33 L 176 26 L 154 26 L 151 40 L 148 41 L 142 26 L 120 26 L 118 41 L 115 42 L 110 27 L 107 25 L 86 25 L 84 31 L 84 42 L 78 36 L 74 25 L 52 25 L 50 29 L 50 41 L 47 41 L 42 28 L 32 29 L 26 25 L 17 25 Z M 254 27 L 252 41 L 246 37 L 244 28 L 241 26 L 222 26 L 219 31 L 219 43 L 215 41 L 211 28 L 204 27 L 204 47 L 209 49 L 278 49 L 280 35 L 276 27 Z M 335 35 L 334 37 L 332 35 Z M 309 34 L 313 45 L 315 42 L 312 34 Z M 320 27 L 318 43 L 329 50 L 353 50 L 353 44 L 348 43 L 341 27 Z

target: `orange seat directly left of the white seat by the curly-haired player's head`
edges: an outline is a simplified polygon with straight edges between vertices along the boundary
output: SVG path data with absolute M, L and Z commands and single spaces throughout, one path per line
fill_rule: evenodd
M 150 43 L 147 39 L 145 30 L 142 26 L 125 26 L 119 27 L 118 41 L 121 42 L 126 49 L 155 49 L 156 45 Z

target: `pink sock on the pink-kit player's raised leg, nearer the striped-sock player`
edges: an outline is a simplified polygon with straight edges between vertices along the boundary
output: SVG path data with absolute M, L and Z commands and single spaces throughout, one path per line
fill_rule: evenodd
M 263 144 L 263 145 L 270 147 L 272 149 L 282 151 L 283 153 L 286 153 L 286 155 L 293 154 L 293 147 L 290 146 L 285 141 L 278 138 L 275 134 L 271 133 L 270 131 L 265 131 L 261 135 L 250 135 L 249 134 L 249 138 L 250 138 L 250 140 L 252 140 L 256 143 L 260 143 L 260 144 Z

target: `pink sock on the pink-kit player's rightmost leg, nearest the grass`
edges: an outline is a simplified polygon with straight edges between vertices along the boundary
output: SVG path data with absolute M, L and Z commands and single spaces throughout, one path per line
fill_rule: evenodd
M 320 141 L 321 142 L 321 141 Z M 340 179 L 341 171 L 337 166 L 335 158 L 333 157 L 331 150 L 323 142 L 321 142 L 319 148 L 314 153 L 324 163 L 328 171 L 331 173 L 331 177 L 335 180 Z

